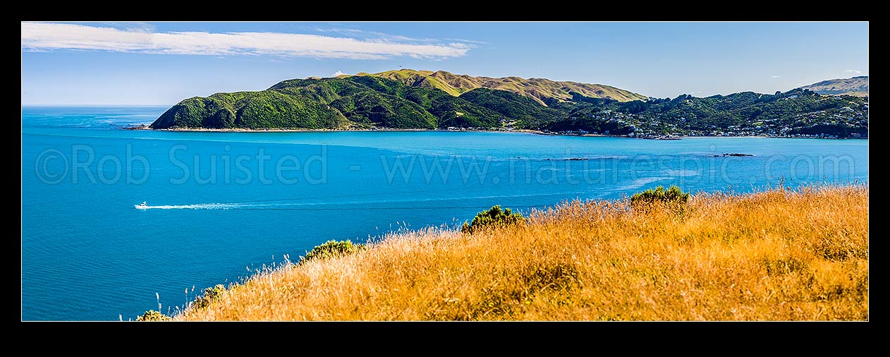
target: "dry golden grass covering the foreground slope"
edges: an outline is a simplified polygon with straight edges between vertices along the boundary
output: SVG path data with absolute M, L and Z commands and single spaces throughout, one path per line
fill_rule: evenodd
M 868 320 L 868 186 L 571 202 L 529 224 L 389 235 L 175 320 Z

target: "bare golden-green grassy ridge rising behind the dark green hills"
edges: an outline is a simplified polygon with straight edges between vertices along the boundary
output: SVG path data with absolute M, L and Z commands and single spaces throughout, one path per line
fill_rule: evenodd
M 360 73 L 357 76 L 368 75 Z M 591 85 L 577 82 L 557 82 L 546 78 L 520 77 L 472 77 L 456 75 L 444 70 L 414 70 L 399 69 L 368 76 L 384 77 L 401 81 L 406 85 L 438 88 L 451 95 L 460 95 L 476 88 L 498 89 L 513 92 L 529 97 L 538 104 L 546 106 L 546 101 L 556 99 L 559 101 L 571 100 L 571 93 L 580 93 L 592 98 L 609 98 L 616 101 L 645 100 L 646 96 L 628 92 L 610 85 Z

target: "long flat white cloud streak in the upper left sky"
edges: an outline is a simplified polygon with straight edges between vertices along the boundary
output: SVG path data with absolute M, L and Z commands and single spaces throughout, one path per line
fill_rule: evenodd
M 355 39 L 279 32 L 149 32 L 76 24 L 22 22 L 21 48 L 101 50 L 126 53 L 277 55 L 284 57 L 379 60 L 391 57 L 459 57 L 469 47 L 406 44 L 388 39 Z

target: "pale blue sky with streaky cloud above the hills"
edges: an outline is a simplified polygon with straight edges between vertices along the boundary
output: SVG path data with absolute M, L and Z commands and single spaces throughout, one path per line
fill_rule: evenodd
M 22 22 L 22 105 L 173 105 L 282 80 L 446 70 L 658 98 L 869 75 L 861 22 Z

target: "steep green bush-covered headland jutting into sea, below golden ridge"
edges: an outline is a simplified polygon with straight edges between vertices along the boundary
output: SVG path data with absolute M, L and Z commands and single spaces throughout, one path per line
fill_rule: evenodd
M 151 128 L 496 128 L 502 115 L 435 88 L 380 77 L 290 79 L 259 92 L 193 97 Z

